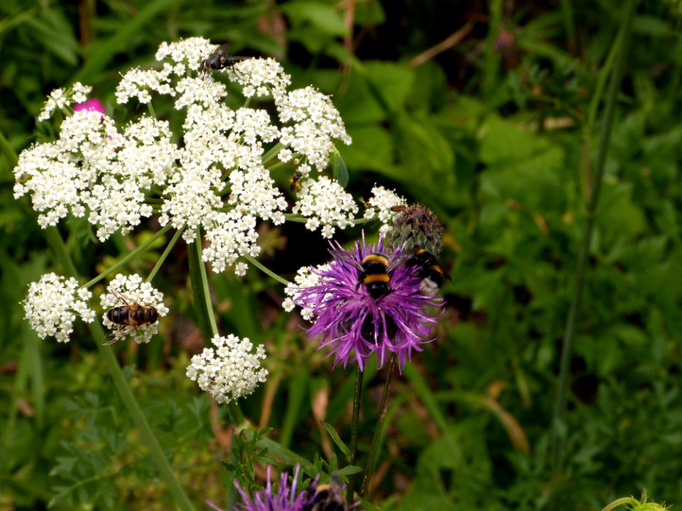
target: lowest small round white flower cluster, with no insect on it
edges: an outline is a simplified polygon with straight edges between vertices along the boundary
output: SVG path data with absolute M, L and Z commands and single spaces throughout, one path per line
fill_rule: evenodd
M 265 359 L 262 345 L 252 353 L 254 346 L 247 338 L 216 335 L 211 341 L 215 348 L 204 348 L 202 353 L 193 356 L 187 376 L 218 403 L 249 395 L 258 383 L 265 382 L 268 371 L 261 368 L 261 361 Z

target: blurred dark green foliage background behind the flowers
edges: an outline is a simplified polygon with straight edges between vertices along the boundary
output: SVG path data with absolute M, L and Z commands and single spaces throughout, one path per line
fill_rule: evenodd
M 193 35 L 229 41 L 234 55 L 276 57 L 295 86 L 333 94 L 353 137 L 340 150 L 354 196 L 369 197 L 375 182 L 394 187 L 445 224 L 448 308 L 438 341 L 394 381 L 377 505 L 587 510 L 643 488 L 681 505 L 677 0 L 640 1 L 634 18 L 570 360 L 560 471 L 548 451 L 602 119 L 596 102 L 590 122 L 590 105 L 621 10 L 619 0 L 1 2 L 0 509 L 168 509 L 103 374 L 99 340 L 77 329 L 67 345 L 40 341 L 23 321 L 26 285 L 54 263 L 28 201 L 13 199 L 8 148 L 52 135 L 35 116 L 55 87 L 90 84 L 112 114 L 121 72 L 151 65 L 162 41 Z M 291 175 L 274 177 L 286 189 Z M 79 221 L 60 226 L 87 278 L 157 228 L 152 220 L 102 246 Z M 326 243 L 301 224 L 263 225 L 261 243 L 264 263 L 288 278 L 327 258 Z M 148 273 L 163 248 L 131 270 Z M 186 268 L 180 245 L 154 282 L 173 319 L 151 344 L 117 353 L 202 508 L 206 498 L 224 502 L 231 484 L 220 466 L 229 434 L 184 375 L 202 348 Z M 221 331 L 269 351 L 268 383 L 244 411 L 298 454 L 330 458 L 319 421 L 347 439 L 352 370 L 332 370 L 301 319 L 281 311 L 283 290 L 269 278 L 251 270 L 212 283 Z M 383 381 L 376 370 L 364 378 L 361 461 Z

